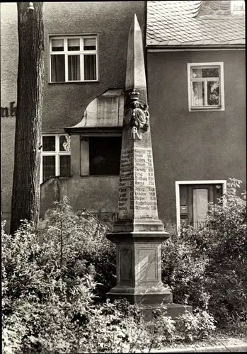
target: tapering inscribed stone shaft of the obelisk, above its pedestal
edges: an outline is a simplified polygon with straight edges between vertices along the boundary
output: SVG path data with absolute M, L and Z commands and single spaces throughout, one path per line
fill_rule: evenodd
M 134 15 L 127 52 L 119 201 L 113 232 L 164 231 L 158 217 L 148 120 L 142 30 Z

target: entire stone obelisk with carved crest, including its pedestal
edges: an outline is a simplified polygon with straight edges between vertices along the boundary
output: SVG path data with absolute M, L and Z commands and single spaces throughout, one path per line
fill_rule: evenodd
M 117 285 L 110 299 L 159 306 L 173 302 L 161 282 L 161 243 L 151 148 L 142 30 L 134 15 L 129 32 L 117 220 L 107 238 L 117 248 Z

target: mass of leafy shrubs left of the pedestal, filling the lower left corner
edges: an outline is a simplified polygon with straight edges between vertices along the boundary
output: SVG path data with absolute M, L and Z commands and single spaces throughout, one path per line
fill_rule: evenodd
M 105 231 L 65 199 L 38 232 L 26 222 L 13 236 L 2 232 L 4 353 L 132 353 L 179 338 L 166 314 L 148 324 L 125 300 L 97 302 L 96 278 L 114 258 Z

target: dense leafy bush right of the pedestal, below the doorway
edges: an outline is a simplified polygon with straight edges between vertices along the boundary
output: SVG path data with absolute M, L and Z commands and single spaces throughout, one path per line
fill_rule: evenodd
M 220 325 L 247 319 L 246 192 L 229 178 L 218 205 L 209 204 L 200 229 L 173 230 L 162 245 L 162 276 L 174 302 L 209 309 Z

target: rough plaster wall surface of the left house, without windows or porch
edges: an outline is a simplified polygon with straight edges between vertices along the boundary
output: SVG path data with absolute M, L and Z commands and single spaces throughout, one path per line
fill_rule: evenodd
M 64 132 L 64 127 L 76 125 L 81 120 L 85 108 L 93 98 L 108 89 L 125 87 L 128 32 L 134 13 L 137 14 L 141 28 L 144 28 L 144 6 L 144 1 L 44 3 L 45 85 L 42 132 Z M 49 83 L 48 36 L 71 34 L 98 35 L 98 82 Z M 16 3 L 4 3 L 1 4 L 1 107 L 17 101 L 17 70 L 17 6 Z M 1 118 L 1 203 L 4 219 L 9 219 L 11 215 L 14 134 L 15 117 Z M 103 210 L 105 205 L 107 210 L 116 210 L 118 178 L 113 177 L 113 181 L 111 178 L 109 181 L 104 178 L 94 176 L 92 180 L 76 178 L 67 184 L 64 182 L 67 187 L 61 187 L 61 195 L 70 193 L 75 207 L 81 205 L 81 200 L 85 200 L 87 207 L 91 202 L 91 210 Z M 51 188 L 52 185 L 47 186 L 47 190 L 51 191 Z M 55 192 L 54 195 L 57 195 Z M 82 195 L 86 195 L 86 198 L 82 199 Z M 106 197 L 108 202 L 105 202 Z M 42 210 L 50 206 L 51 202 L 50 198 L 42 198 Z

